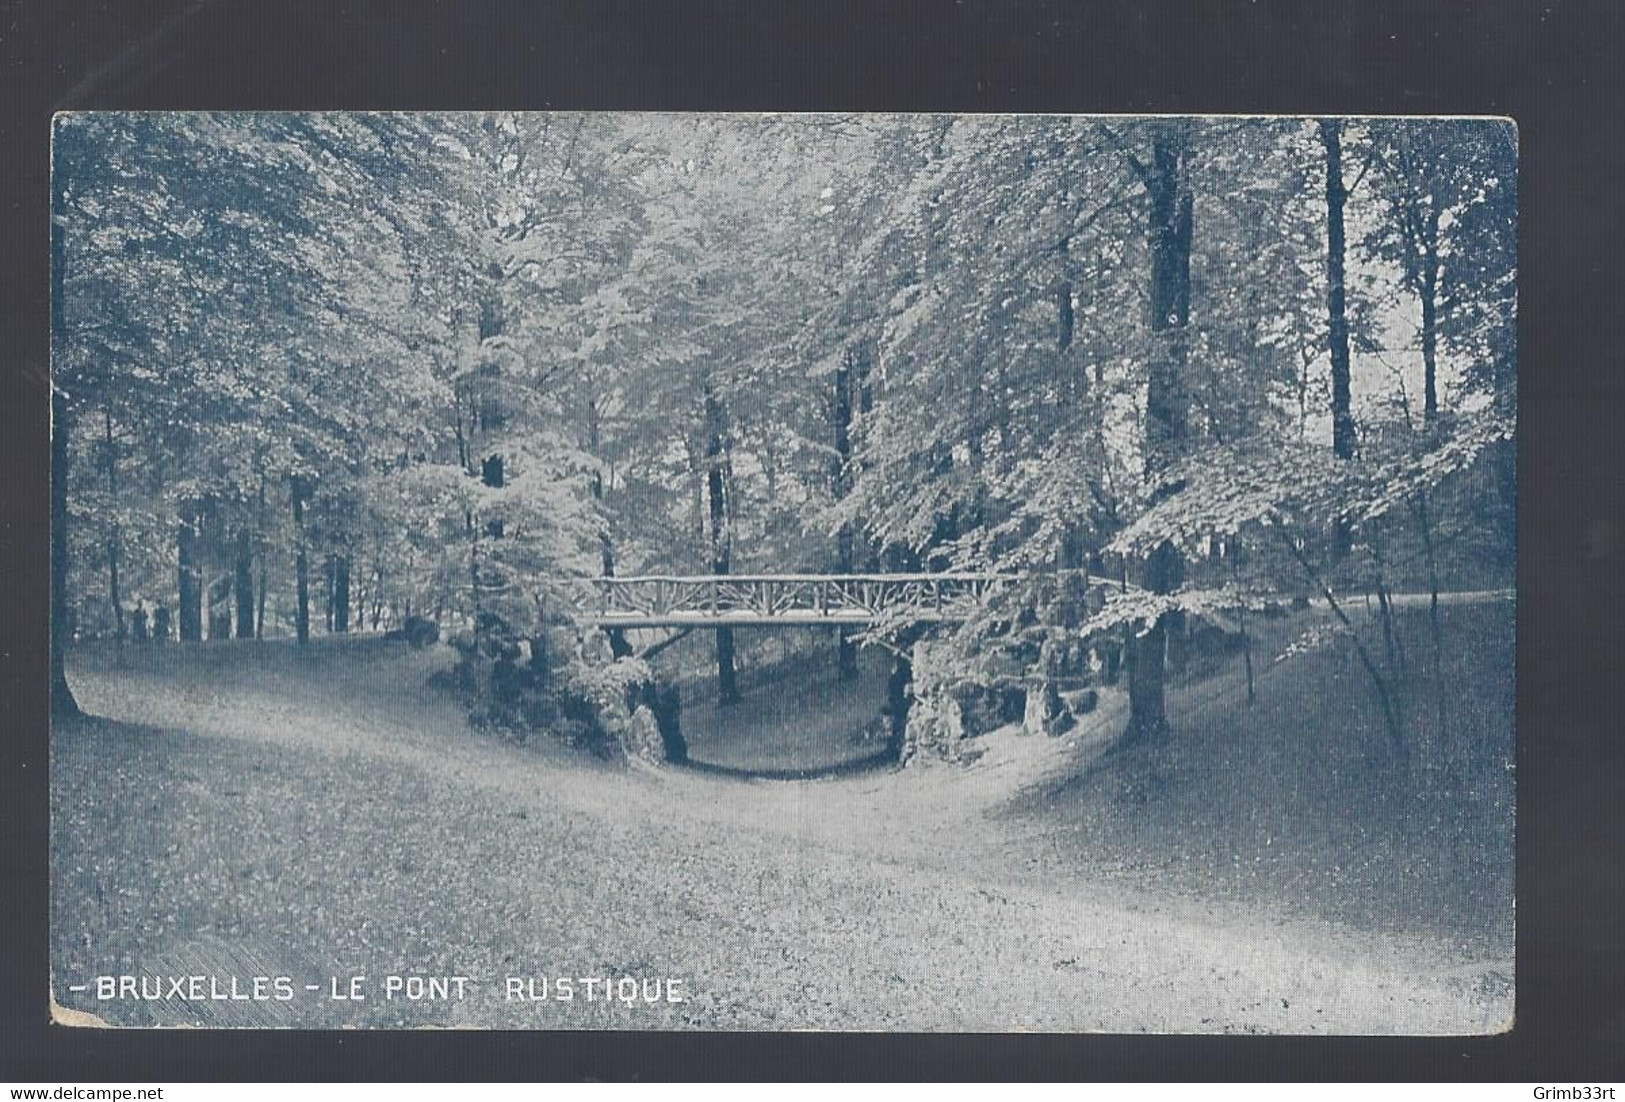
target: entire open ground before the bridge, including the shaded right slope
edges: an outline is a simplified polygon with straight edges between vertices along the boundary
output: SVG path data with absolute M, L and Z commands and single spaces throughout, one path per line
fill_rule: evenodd
M 1165 746 L 1118 748 L 1107 694 L 1063 738 L 821 780 L 470 731 L 444 650 L 86 650 L 88 718 L 52 733 L 54 996 L 125 1026 L 1502 1029 L 1511 606 L 1445 611 L 1472 640 L 1446 663 L 1448 782 L 1394 779 L 1336 644 L 1256 655 L 1251 705 L 1233 663 L 1180 689 Z M 292 996 L 99 1000 L 101 975 Z M 353 977 L 366 998 L 333 998 Z M 466 980 L 410 1000 L 388 977 Z M 637 998 L 590 998 L 626 978 Z

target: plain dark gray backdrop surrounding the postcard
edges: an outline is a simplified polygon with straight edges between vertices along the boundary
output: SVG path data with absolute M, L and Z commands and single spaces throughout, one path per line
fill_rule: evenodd
M 0 1078 L 1625 1076 L 1625 10 L 1592 3 L 0 8 Z M 49 115 L 86 107 L 1503 114 L 1521 128 L 1518 1027 L 1363 1039 L 88 1034 L 46 1024 Z

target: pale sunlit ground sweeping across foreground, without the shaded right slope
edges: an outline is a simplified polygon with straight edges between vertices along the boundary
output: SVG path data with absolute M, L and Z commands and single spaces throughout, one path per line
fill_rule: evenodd
M 128 1024 L 663 1029 L 1451 1034 L 1510 1019 L 1495 974 L 1436 946 L 1090 884 L 1053 860 L 1068 824 L 1038 837 L 994 814 L 1098 754 L 1110 702 L 1069 740 L 994 736 L 968 770 L 748 782 L 471 736 L 426 688 L 432 655 L 395 655 L 379 684 L 343 655 L 229 650 L 213 668 L 75 675 L 81 704 L 119 722 L 54 735 L 70 1008 Z M 471 987 L 270 1008 L 67 991 L 205 965 Z M 570 1001 L 505 998 L 507 977 L 561 975 Z M 588 977 L 681 978 L 684 1001 L 587 1001 Z

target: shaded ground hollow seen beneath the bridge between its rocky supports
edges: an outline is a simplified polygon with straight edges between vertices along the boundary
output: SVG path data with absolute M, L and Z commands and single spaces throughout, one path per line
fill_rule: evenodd
M 858 653 L 858 676 L 842 681 L 835 653 L 808 655 L 751 688 L 731 705 L 682 709 L 686 766 L 697 772 L 767 780 L 811 780 L 881 769 L 887 743 L 886 678 L 890 655 Z

